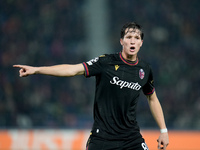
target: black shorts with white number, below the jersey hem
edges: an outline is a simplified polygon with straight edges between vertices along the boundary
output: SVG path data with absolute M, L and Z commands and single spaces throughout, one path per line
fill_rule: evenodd
M 86 150 L 149 150 L 144 139 L 136 140 L 104 140 L 90 136 Z

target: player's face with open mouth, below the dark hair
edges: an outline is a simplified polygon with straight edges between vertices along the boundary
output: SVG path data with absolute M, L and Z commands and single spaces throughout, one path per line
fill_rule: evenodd
M 143 40 L 138 29 L 126 29 L 125 36 L 120 39 L 122 45 L 122 56 L 128 60 L 136 60 L 137 53 L 142 46 Z

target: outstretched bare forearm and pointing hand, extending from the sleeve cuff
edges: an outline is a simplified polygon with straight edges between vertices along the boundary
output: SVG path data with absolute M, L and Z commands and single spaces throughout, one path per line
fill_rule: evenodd
M 75 75 L 83 75 L 85 73 L 85 69 L 83 64 L 62 64 L 55 66 L 43 66 L 43 67 L 33 67 L 27 65 L 13 65 L 13 67 L 20 68 L 19 76 L 26 77 L 32 74 L 44 74 L 44 75 L 52 75 L 52 76 L 60 76 L 60 77 L 72 77 Z

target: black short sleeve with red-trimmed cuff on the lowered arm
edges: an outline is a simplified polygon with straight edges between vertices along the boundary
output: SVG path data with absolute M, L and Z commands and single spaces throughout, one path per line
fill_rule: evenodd
M 152 69 L 149 67 L 149 77 L 142 90 L 145 95 L 151 95 L 155 91 Z

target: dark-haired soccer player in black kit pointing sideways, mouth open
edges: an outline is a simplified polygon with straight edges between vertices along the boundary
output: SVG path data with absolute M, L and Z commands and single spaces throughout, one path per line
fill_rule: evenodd
M 169 144 L 164 115 L 156 96 L 152 69 L 137 56 L 144 33 L 140 25 L 126 23 L 121 29 L 122 51 L 105 54 L 80 64 L 21 68 L 20 77 L 32 74 L 53 76 L 85 75 L 96 77 L 94 124 L 87 150 L 148 150 L 136 121 L 136 106 L 141 91 L 160 128 L 158 149 Z

